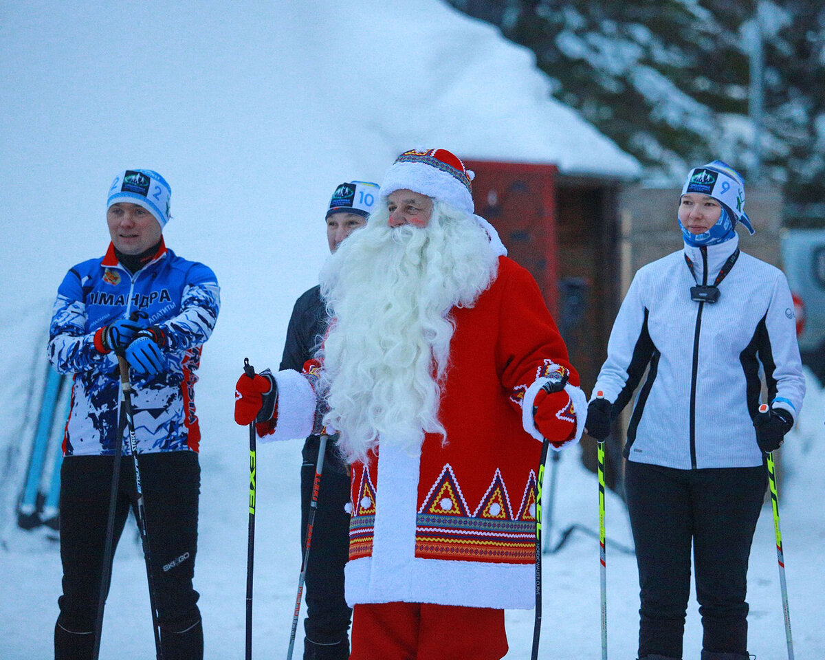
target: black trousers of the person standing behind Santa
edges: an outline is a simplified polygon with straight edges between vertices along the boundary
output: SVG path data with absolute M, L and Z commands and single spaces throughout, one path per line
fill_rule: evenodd
M 306 544 L 309 503 L 318 460 L 318 436 L 304 443 L 301 465 L 301 553 Z M 350 478 L 329 437 L 318 489 L 318 510 L 306 574 L 307 619 L 304 660 L 346 660 L 350 654 L 347 630 L 352 610 L 344 598 L 344 566 L 349 558 Z M 303 555 L 302 555 L 303 556 Z

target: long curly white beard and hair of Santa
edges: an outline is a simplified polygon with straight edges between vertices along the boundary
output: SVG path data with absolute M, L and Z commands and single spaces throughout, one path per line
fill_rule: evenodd
M 341 432 L 347 460 L 379 441 L 415 455 L 438 419 L 455 330 L 450 310 L 471 307 L 496 276 L 498 257 L 475 219 L 436 201 L 424 229 L 391 229 L 370 216 L 321 271 L 334 319 L 323 346 L 324 424 Z

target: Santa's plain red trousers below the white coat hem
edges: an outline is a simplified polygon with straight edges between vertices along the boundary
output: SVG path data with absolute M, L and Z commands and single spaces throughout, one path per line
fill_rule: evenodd
M 500 660 L 504 610 L 430 603 L 366 603 L 352 613 L 350 660 Z

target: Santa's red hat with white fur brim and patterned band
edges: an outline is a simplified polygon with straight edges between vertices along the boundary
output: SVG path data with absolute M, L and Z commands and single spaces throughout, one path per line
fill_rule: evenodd
M 395 159 L 381 181 L 381 197 L 408 190 L 445 201 L 472 215 L 470 181 L 474 173 L 454 153 L 446 149 L 410 149 Z

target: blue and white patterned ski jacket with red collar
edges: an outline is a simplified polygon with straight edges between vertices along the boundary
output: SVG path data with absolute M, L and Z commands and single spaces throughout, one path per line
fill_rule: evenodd
M 142 326 L 166 333 L 167 370 L 132 374 L 132 407 L 139 453 L 198 450 L 193 398 L 200 351 L 220 307 L 214 272 L 186 261 L 161 243 L 153 260 L 132 275 L 110 244 L 105 257 L 71 268 L 59 286 L 50 326 L 49 359 L 74 373 L 64 455 L 113 455 L 120 416 L 117 358 L 102 352 L 97 332 L 134 310 Z M 97 333 L 97 342 L 96 342 Z M 124 442 L 129 453 L 129 442 Z

